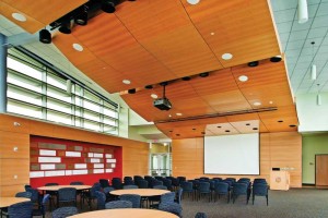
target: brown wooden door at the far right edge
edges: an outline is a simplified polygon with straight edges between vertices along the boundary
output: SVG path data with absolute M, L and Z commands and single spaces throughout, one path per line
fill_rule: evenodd
M 328 187 L 328 155 L 316 155 L 316 186 Z

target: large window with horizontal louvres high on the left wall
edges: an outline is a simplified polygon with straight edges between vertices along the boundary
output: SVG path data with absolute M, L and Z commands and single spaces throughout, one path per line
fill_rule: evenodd
M 118 134 L 118 105 L 84 87 L 68 83 L 65 73 L 12 48 L 8 56 L 8 112 L 92 131 Z

